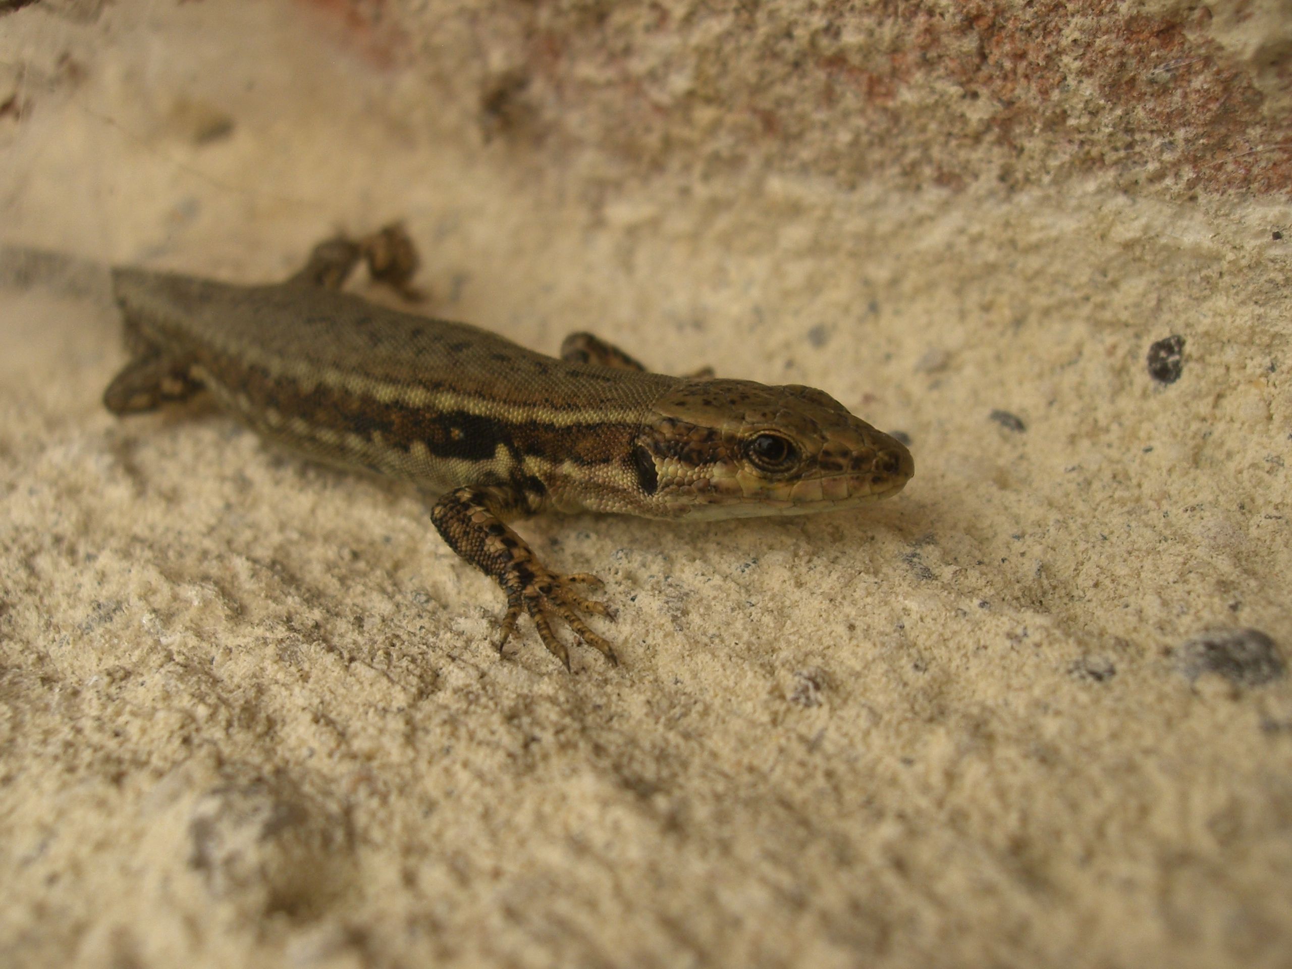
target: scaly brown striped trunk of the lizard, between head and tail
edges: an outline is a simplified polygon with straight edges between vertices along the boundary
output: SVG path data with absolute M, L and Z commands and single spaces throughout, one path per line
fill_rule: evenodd
M 276 443 L 432 494 L 522 478 L 541 504 L 559 464 L 623 460 L 678 382 L 298 283 L 118 269 L 112 284 L 136 354 L 163 354 Z

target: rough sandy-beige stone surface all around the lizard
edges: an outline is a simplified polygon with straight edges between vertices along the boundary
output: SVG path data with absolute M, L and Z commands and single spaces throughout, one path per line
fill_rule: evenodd
M 0 964 L 1292 965 L 1286 3 L 14 6 Z M 623 665 L 500 660 L 415 495 L 99 403 L 88 264 L 393 217 L 916 477 L 526 523 Z

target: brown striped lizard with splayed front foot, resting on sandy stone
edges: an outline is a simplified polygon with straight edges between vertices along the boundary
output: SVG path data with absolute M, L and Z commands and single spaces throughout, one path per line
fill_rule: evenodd
M 652 373 L 588 332 L 547 357 L 477 327 L 342 292 L 359 262 L 416 297 L 398 224 L 319 243 L 280 283 L 112 270 L 129 362 L 115 415 L 211 394 L 269 442 L 411 482 L 448 547 L 501 587 L 501 652 L 522 615 L 568 671 L 562 620 L 618 663 L 585 616 L 615 618 L 590 574 L 540 563 L 509 522 L 547 512 L 705 521 L 850 508 L 915 472 L 895 438 L 822 390 Z

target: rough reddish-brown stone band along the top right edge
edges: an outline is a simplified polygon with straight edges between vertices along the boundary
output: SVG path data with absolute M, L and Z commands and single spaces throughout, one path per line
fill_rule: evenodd
M 399 9 L 297 3 L 359 37 L 389 30 Z M 545 150 L 845 185 L 1023 187 L 1111 173 L 1120 187 L 1176 196 L 1292 195 L 1292 118 L 1267 115 L 1248 68 L 1209 39 L 1204 6 L 1167 17 L 1128 16 L 1116 0 L 632 9 L 513 3 L 481 27 L 530 79 L 527 130 L 544 133 Z

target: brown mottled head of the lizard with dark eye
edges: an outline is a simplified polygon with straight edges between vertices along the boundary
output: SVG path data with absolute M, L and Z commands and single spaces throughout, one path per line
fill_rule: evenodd
M 691 380 L 655 401 L 632 452 L 660 517 L 743 518 L 850 508 L 895 495 L 911 452 L 808 386 Z

